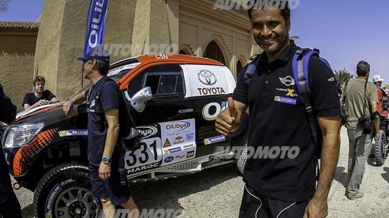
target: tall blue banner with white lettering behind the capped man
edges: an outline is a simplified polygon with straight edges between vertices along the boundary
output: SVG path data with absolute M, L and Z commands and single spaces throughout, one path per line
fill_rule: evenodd
M 108 0 L 90 0 L 84 41 L 84 55 L 90 49 L 103 44 L 107 8 Z

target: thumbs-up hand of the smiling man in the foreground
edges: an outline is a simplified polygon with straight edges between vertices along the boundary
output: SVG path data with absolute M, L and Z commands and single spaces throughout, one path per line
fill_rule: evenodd
M 227 99 L 228 108 L 223 110 L 216 119 L 216 132 L 228 136 L 233 127 L 239 126 L 238 110 L 235 108 L 232 97 Z

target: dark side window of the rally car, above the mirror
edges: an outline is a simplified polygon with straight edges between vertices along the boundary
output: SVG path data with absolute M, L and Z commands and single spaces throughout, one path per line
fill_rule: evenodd
M 161 65 L 146 69 L 129 83 L 128 94 L 132 97 L 146 86 L 151 87 L 154 99 L 185 95 L 182 69 L 179 65 Z

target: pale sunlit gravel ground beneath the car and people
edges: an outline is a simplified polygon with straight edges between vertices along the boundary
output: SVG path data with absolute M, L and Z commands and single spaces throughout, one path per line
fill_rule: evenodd
M 389 160 L 384 166 L 366 164 L 361 190 L 355 201 L 345 196 L 348 139 L 341 130 L 341 153 L 329 195 L 329 218 L 389 218 Z M 243 193 L 242 177 L 234 164 L 166 181 L 131 186 L 140 208 L 183 209 L 179 218 L 236 218 Z M 17 191 L 23 218 L 33 218 L 32 193 Z M 163 196 L 163 197 L 162 197 Z

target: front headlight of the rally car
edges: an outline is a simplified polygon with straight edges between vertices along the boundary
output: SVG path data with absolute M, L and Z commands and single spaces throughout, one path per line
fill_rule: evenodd
M 35 138 L 44 126 L 44 123 L 8 126 L 3 134 L 3 147 L 15 148 L 27 145 Z

